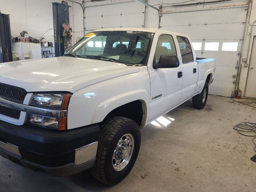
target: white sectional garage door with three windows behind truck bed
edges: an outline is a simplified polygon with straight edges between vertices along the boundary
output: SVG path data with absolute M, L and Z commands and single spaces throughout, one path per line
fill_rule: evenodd
M 239 7 L 163 14 L 163 29 L 188 34 L 192 42 L 199 43 L 196 57 L 215 59 L 215 77 L 209 88 L 211 94 L 231 96 L 234 92 L 236 78 L 233 75 L 237 73 L 246 13 L 245 7 Z M 237 49 L 234 48 L 236 45 Z

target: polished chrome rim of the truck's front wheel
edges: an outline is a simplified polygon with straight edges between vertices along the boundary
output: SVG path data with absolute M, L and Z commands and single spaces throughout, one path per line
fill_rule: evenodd
M 112 165 L 116 171 L 121 171 L 129 163 L 134 148 L 133 136 L 129 133 L 123 135 L 114 150 Z

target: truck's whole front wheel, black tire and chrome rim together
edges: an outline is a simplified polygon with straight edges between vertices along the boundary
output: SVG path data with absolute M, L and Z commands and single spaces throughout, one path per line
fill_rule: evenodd
M 113 117 L 101 126 L 92 175 L 103 183 L 114 185 L 132 170 L 140 150 L 140 128 L 125 117 Z

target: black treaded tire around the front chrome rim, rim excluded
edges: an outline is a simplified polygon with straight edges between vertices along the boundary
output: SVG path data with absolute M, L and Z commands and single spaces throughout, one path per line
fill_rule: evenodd
M 129 163 L 121 171 L 113 168 L 113 154 L 117 143 L 124 134 L 131 134 L 134 138 L 134 148 Z M 133 120 L 125 117 L 113 117 L 101 126 L 96 161 L 91 168 L 92 175 L 101 182 L 114 185 L 123 180 L 137 159 L 140 151 L 140 128 Z

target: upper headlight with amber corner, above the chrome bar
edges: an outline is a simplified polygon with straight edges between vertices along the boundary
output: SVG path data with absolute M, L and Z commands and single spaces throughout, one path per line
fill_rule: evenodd
M 67 109 L 70 96 L 69 93 L 35 93 L 30 105 L 48 109 Z

